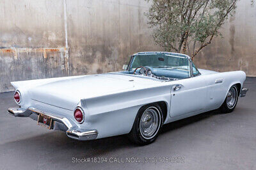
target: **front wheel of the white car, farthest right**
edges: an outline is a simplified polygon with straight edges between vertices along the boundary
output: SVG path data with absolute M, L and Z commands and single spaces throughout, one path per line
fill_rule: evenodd
M 225 101 L 221 105 L 220 109 L 223 113 L 228 113 L 234 111 L 238 99 L 238 90 L 237 86 L 233 85 L 228 90 L 227 97 L 225 98 Z

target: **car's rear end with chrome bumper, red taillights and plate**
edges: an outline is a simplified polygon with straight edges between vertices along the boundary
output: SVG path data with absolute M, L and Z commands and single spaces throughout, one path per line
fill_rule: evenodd
M 36 100 L 27 100 L 30 107 L 22 107 L 20 103 L 25 100 L 20 91 L 15 91 L 15 102 L 19 107 L 8 109 L 8 113 L 15 117 L 29 117 L 37 122 L 37 125 L 49 130 L 61 130 L 72 139 L 86 141 L 96 139 L 98 132 L 95 129 L 84 128 L 81 123 L 85 120 L 84 109 L 80 105 L 74 110 L 56 107 Z

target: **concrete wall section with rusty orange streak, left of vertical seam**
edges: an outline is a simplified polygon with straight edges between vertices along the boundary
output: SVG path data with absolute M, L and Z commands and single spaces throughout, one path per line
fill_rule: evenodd
M 0 23 L 1 92 L 11 81 L 67 75 L 63 1 L 1 0 Z

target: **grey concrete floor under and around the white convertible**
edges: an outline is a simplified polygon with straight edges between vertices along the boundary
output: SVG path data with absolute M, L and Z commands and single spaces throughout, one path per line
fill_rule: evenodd
M 248 77 L 244 87 L 250 90 L 239 98 L 234 112 L 205 112 L 170 123 L 148 146 L 136 146 L 125 135 L 85 142 L 69 139 L 30 118 L 7 114 L 6 109 L 16 105 L 13 93 L 1 93 L 0 169 L 256 169 L 256 77 Z M 73 163 L 75 158 L 94 157 L 108 162 Z M 127 163 L 131 157 L 141 162 L 183 157 L 184 163 Z

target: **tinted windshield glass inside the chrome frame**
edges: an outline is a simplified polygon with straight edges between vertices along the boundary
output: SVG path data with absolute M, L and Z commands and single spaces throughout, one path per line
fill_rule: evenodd
M 189 72 L 189 59 L 180 54 L 137 54 L 132 60 L 131 69 L 138 66 L 178 69 Z

